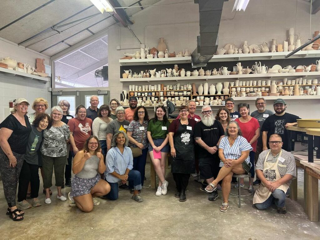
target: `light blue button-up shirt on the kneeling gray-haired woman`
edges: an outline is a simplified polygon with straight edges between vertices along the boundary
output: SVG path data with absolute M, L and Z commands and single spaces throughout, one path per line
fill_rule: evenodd
M 132 170 L 133 157 L 131 149 L 125 146 L 123 153 L 121 153 L 118 147 L 111 148 L 107 153 L 106 167 L 105 179 L 108 182 L 118 182 L 120 179 L 111 173 L 116 172 L 123 175 L 127 168 Z

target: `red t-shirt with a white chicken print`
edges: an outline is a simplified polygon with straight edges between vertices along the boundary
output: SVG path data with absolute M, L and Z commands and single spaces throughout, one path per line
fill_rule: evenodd
M 73 132 L 73 138 L 75 139 L 76 147 L 82 150 L 85 141 L 92 135 L 92 120 L 85 118 L 80 120 L 78 118 L 72 118 L 68 121 L 70 132 Z M 73 151 L 72 146 L 70 150 Z

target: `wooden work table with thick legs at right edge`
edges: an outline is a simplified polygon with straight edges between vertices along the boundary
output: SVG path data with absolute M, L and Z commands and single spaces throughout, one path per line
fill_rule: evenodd
M 300 152 L 294 152 L 300 153 Z M 303 152 L 301 152 L 303 153 Z M 320 179 L 320 159 L 308 162 L 308 156 L 294 155 L 296 166 L 304 170 L 303 209 L 310 221 L 318 221 L 318 180 Z M 298 176 L 298 174 L 297 174 Z M 290 199 L 297 200 L 297 179 L 292 180 Z

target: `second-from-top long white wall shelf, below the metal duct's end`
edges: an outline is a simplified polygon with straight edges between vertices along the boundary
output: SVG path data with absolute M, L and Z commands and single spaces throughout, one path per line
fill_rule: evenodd
M 185 77 L 140 77 L 120 78 L 120 82 L 158 82 L 158 81 L 207 81 L 207 80 L 228 80 L 228 79 L 265 79 L 265 78 L 295 78 L 320 76 L 320 72 L 301 73 L 258 73 L 258 74 L 234 74 L 234 75 L 211 75 L 211 76 L 185 76 Z

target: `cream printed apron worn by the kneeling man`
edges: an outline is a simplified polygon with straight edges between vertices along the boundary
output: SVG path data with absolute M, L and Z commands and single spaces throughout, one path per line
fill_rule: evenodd
M 278 171 L 278 163 L 279 163 L 279 158 L 281 157 L 282 150 L 280 151 L 279 156 L 277 157 L 276 163 L 268 163 L 267 159 L 270 154 L 271 150 L 269 150 L 266 158 L 264 159 L 264 167 L 263 167 L 263 175 L 268 181 L 275 182 L 281 178 L 280 173 Z M 268 171 L 268 174 L 265 174 L 265 172 Z M 266 175 L 268 175 L 266 177 Z M 277 189 L 280 189 L 284 191 L 284 193 L 287 192 L 289 186 L 284 183 L 280 185 Z M 255 191 L 254 196 L 253 196 L 253 204 L 256 203 L 263 203 L 265 202 L 271 195 L 272 192 L 269 191 L 269 189 L 261 182 L 259 188 Z

